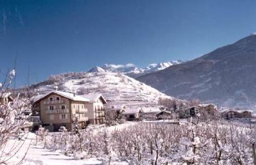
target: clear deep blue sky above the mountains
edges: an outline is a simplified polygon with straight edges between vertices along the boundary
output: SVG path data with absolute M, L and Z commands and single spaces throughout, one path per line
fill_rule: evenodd
M 0 0 L 0 68 L 17 84 L 104 63 L 189 60 L 256 31 L 256 1 Z

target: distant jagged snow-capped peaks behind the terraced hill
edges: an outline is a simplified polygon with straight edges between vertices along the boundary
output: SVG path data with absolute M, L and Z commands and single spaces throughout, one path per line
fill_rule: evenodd
M 121 72 L 125 75 L 129 75 L 130 77 L 138 77 L 140 75 L 156 72 L 157 70 L 163 70 L 172 65 L 177 65 L 180 63 L 183 63 L 183 61 L 177 60 L 177 61 L 168 61 L 164 63 L 152 63 L 145 68 L 136 67 L 136 65 L 132 63 L 127 63 L 125 65 L 104 64 L 100 68 L 108 72 Z

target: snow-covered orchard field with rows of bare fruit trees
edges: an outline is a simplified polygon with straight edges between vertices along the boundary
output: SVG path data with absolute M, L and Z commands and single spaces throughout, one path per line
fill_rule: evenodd
M 172 120 L 128 122 L 111 127 L 92 125 L 81 130 L 80 135 L 56 132 L 41 140 L 37 136 L 37 145 L 35 134 L 29 133 L 8 164 L 20 161 L 30 142 L 23 164 L 253 163 L 256 125 L 236 123 L 234 126 L 214 121 L 195 125 L 183 121 L 182 125 L 175 125 L 168 122 Z M 12 148 L 13 143 L 17 140 L 10 140 L 6 148 Z

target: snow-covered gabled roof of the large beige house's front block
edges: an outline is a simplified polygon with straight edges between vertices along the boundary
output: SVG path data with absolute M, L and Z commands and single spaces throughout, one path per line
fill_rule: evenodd
M 38 97 L 36 97 L 35 100 L 33 100 L 34 102 L 37 102 L 38 100 L 47 97 L 47 95 L 50 95 L 51 93 L 55 93 L 56 95 L 60 95 L 62 97 L 68 98 L 70 100 L 74 100 L 74 101 L 82 101 L 82 102 L 90 102 L 90 100 L 88 98 L 85 98 L 81 95 L 74 95 L 74 93 L 68 93 L 65 91 L 50 91 L 48 93 L 46 93 L 45 95 L 40 95 Z

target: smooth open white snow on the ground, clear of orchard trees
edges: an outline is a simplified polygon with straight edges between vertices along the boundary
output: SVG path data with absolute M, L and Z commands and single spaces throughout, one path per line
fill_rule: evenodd
M 115 129 L 124 129 L 125 127 L 128 127 L 129 125 L 134 124 L 135 122 L 128 122 L 121 125 L 111 126 L 111 127 L 104 127 L 98 125 L 95 127 L 95 130 L 100 131 L 101 129 L 108 129 L 109 131 L 115 130 Z M 12 139 L 8 142 L 6 145 L 5 152 L 8 152 L 12 150 L 12 146 L 17 146 L 15 149 L 13 149 L 12 153 L 17 152 L 14 157 L 6 157 L 6 160 L 8 160 L 8 164 L 17 164 L 20 161 L 22 161 L 22 158 L 24 155 L 26 157 L 22 161 L 22 164 L 104 164 L 102 159 L 98 158 L 91 158 L 91 159 L 83 159 L 83 160 L 77 160 L 73 157 L 68 157 L 63 155 L 59 152 L 53 152 L 51 150 L 47 150 L 44 148 L 44 146 L 36 145 L 36 135 L 31 132 L 26 133 L 26 140 L 25 141 L 19 141 L 18 139 Z M 20 149 L 19 146 L 21 146 Z M 26 153 L 28 152 L 28 153 Z M 127 162 L 111 162 L 111 164 L 127 164 Z

